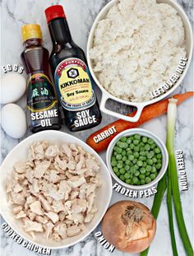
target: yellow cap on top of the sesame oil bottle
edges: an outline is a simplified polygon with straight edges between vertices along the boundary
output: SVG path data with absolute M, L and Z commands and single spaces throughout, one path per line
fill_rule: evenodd
M 42 31 L 38 24 L 27 24 L 21 28 L 22 40 L 30 40 L 32 38 L 42 39 Z

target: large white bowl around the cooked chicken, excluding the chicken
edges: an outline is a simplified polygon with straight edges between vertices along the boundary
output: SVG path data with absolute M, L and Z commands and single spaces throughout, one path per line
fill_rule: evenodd
M 7 193 L 5 191 L 5 179 L 9 177 L 12 173 L 12 166 L 17 161 L 25 161 L 27 158 L 28 147 L 35 141 L 40 140 L 48 140 L 49 142 L 53 142 L 57 145 L 62 145 L 63 142 L 66 143 L 75 143 L 76 145 L 80 145 L 85 149 L 85 151 L 93 154 L 96 159 L 99 161 L 101 165 L 99 170 L 99 177 L 102 180 L 102 185 L 99 189 L 96 190 L 96 200 L 95 203 L 98 207 L 98 212 L 95 213 L 94 219 L 85 225 L 85 230 L 81 232 L 80 235 L 76 235 L 74 237 L 69 237 L 66 240 L 62 240 L 60 242 L 53 242 L 52 240 L 45 240 L 42 235 L 37 235 L 36 240 L 32 240 L 31 236 L 28 235 L 21 226 L 21 221 L 16 220 L 13 216 L 11 205 L 7 202 Z M 2 162 L 1 166 L 1 185 L 0 185 L 0 193 L 1 193 L 1 214 L 2 217 L 7 221 L 7 224 L 12 227 L 13 230 L 16 231 L 19 235 L 21 235 L 25 240 L 29 240 L 31 243 L 38 244 L 40 246 L 48 247 L 51 249 L 61 249 L 72 244 L 76 244 L 80 240 L 83 240 L 85 236 L 89 235 L 96 226 L 98 226 L 99 221 L 104 216 L 107 208 L 109 207 L 109 202 L 112 196 L 112 179 L 109 174 L 109 170 L 104 164 L 104 161 L 99 157 L 99 155 L 85 142 L 82 142 L 80 139 L 73 137 L 67 133 L 62 133 L 58 131 L 44 131 L 40 133 L 35 133 L 30 137 L 25 138 L 22 142 L 20 142 L 16 147 L 12 149 L 12 151 L 7 155 L 5 160 Z

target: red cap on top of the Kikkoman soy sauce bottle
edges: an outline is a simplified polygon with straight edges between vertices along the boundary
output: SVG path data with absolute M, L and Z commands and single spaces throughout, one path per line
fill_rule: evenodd
M 44 12 L 47 18 L 47 23 L 56 18 L 66 18 L 65 12 L 61 5 L 53 5 L 48 7 Z

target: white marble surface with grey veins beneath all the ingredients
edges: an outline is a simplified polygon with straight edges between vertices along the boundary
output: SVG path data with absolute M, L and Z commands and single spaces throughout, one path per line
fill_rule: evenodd
M 87 36 L 90 31 L 90 26 L 95 20 L 95 16 L 99 10 L 104 7 L 106 2 L 109 0 L 66 0 L 66 1 L 41 1 L 41 0 L 1 0 L 2 7 L 2 40 L 1 40 L 1 66 L 7 63 L 21 63 L 20 54 L 22 51 L 21 45 L 21 26 L 26 23 L 39 23 L 43 30 L 44 45 L 49 50 L 52 48 L 51 40 L 48 35 L 48 28 L 45 21 L 44 9 L 50 4 L 60 3 L 63 5 L 65 12 L 67 13 L 67 19 L 69 26 L 72 31 L 72 37 L 83 49 L 86 48 Z M 192 21 L 192 0 L 178 0 L 182 5 L 185 12 Z M 193 23 L 193 21 L 192 21 Z M 187 76 L 182 85 L 178 87 L 176 92 L 192 91 L 193 77 L 192 77 L 192 65 L 187 72 Z M 100 92 L 98 91 L 99 100 Z M 18 104 L 25 109 L 25 98 L 18 101 Z M 124 107 L 119 108 L 123 112 L 126 110 Z M 110 116 L 103 114 L 103 121 L 100 127 L 104 124 L 110 123 L 114 119 Z M 98 127 L 99 128 L 99 127 Z M 94 132 L 98 128 L 92 130 L 86 130 L 81 133 L 73 133 L 74 136 L 80 137 L 85 140 L 90 133 Z M 160 117 L 158 119 L 151 120 L 146 123 L 143 128 L 146 128 L 153 133 L 157 134 L 160 138 L 165 141 L 166 134 L 166 117 Z M 62 131 L 68 132 L 67 128 L 62 128 Z M 176 140 L 175 148 L 182 149 L 185 156 L 185 165 L 187 171 L 187 180 L 189 184 L 189 190 L 181 193 L 182 207 L 187 225 L 187 230 L 191 240 L 193 240 L 193 229 L 192 229 L 192 209 L 193 209 L 193 101 L 192 99 L 187 100 L 181 106 L 178 107 L 178 120 L 176 125 Z M 30 136 L 28 132 L 26 136 Z M 1 143 L 2 160 L 7 153 L 12 150 L 14 146 L 21 140 L 12 139 L 8 137 L 1 129 Z M 101 154 L 104 159 L 105 154 Z M 126 199 L 118 193 L 113 192 L 112 203 Z M 139 201 L 145 203 L 148 207 L 152 204 L 152 198 L 139 199 Z M 3 220 L 2 220 L 3 221 Z M 176 226 L 176 224 L 175 224 Z M 100 226 L 98 227 L 100 230 Z M 176 236 L 178 243 L 178 253 L 180 256 L 186 255 L 182 246 L 182 241 L 179 239 L 178 230 L 176 228 Z M 8 238 L 7 235 L 1 230 L 1 253 L 3 256 L 32 256 L 35 253 L 21 247 L 21 245 L 13 242 L 12 239 Z M 53 256 L 105 256 L 108 255 L 103 247 L 96 242 L 94 234 L 90 234 L 82 242 L 68 248 L 53 250 Z M 114 251 L 113 255 L 127 256 L 117 250 Z M 157 233 L 155 240 L 150 248 L 150 256 L 172 256 L 172 249 L 169 236 L 169 221 L 167 215 L 166 202 L 164 200 L 162 207 L 159 212 L 159 218 L 157 221 Z

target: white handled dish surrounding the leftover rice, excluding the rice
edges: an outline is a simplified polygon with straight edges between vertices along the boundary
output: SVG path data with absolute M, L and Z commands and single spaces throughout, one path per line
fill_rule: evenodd
M 186 52 L 187 52 L 187 66 L 185 67 L 184 71 L 182 72 L 181 77 L 178 79 L 176 84 L 169 91 L 165 92 L 164 95 L 160 95 L 159 97 L 157 97 L 153 100 L 148 100 L 145 102 L 131 102 L 131 101 L 127 101 L 127 100 L 122 100 L 122 99 L 119 99 L 118 97 L 111 95 L 108 91 L 106 91 L 104 89 L 104 86 L 102 86 L 100 84 L 97 77 L 95 76 L 95 72 L 93 70 L 93 65 L 92 65 L 92 60 L 90 59 L 90 49 L 92 48 L 93 41 L 94 41 L 95 28 L 96 28 L 98 22 L 101 21 L 102 19 L 104 19 L 104 16 L 107 15 L 109 10 L 117 2 L 118 2 L 118 0 L 112 0 L 107 5 L 105 5 L 102 8 L 102 10 L 99 12 L 98 16 L 95 19 L 93 26 L 91 27 L 90 35 L 89 35 L 88 43 L 87 43 L 87 62 L 88 62 L 88 67 L 90 68 L 90 73 L 91 73 L 92 77 L 94 78 L 95 83 L 99 86 L 99 89 L 102 91 L 102 99 L 101 99 L 100 105 L 99 105 L 102 112 L 104 112 L 105 114 L 110 114 L 117 119 L 123 119 L 123 120 L 129 121 L 129 122 L 136 122 L 140 118 L 141 112 L 146 105 L 150 105 L 155 102 L 158 102 L 159 100 L 164 99 L 169 94 L 171 94 L 174 90 L 176 90 L 177 87 L 181 84 L 183 78 L 185 77 L 185 75 L 187 73 L 187 70 L 191 63 L 191 60 L 192 60 L 192 47 L 193 47 L 193 45 L 192 45 L 193 44 L 193 42 L 192 42 L 192 26 L 190 24 L 190 21 L 187 18 L 186 13 L 183 11 L 182 7 L 180 7 L 180 5 L 177 2 L 175 2 L 174 0 L 157 0 L 158 3 L 163 2 L 163 3 L 167 3 L 170 6 L 172 6 L 174 9 L 177 10 L 178 15 L 182 18 L 182 23 L 183 23 L 184 30 L 185 30 L 185 44 L 186 44 L 185 47 L 186 47 Z M 102 42 L 102 44 L 103 44 L 103 42 Z M 127 116 L 124 114 L 119 114 L 117 112 L 114 112 L 111 109 L 107 109 L 105 105 L 106 105 L 107 100 L 109 100 L 109 99 L 118 101 L 119 103 L 122 103 L 124 105 L 131 105 L 131 106 L 136 107 L 136 114 L 134 116 L 130 117 L 130 116 Z

